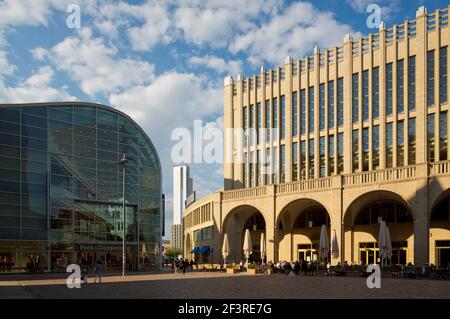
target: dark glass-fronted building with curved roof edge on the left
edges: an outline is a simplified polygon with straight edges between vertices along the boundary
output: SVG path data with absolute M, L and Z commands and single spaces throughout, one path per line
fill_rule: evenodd
M 161 166 L 144 131 L 98 104 L 0 105 L 0 256 L 11 268 L 37 258 L 43 270 L 119 270 L 124 229 L 128 270 L 159 269 Z

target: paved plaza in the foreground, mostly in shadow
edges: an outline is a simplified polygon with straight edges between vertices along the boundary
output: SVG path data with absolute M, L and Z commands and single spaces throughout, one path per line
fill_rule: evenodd
M 102 284 L 68 289 L 61 275 L 2 275 L 4 298 L 171 298 L 171 299 L 322 299 L 445 298 L 450 281 L 382 278 L 381 289 L 369 289 L 359 277 L 247 275 L 217 273 L 152 273 L 105 276 Z

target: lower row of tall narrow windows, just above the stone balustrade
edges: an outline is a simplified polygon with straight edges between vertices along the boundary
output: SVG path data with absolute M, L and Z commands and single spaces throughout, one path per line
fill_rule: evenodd
M 436 124 L 437 122 L 437 124 Z M 427 116 L 427 160 L 448 159 L 447 111 Z M 436 151 L 436 132 L 439 130 L 439 149 Z M 395 133 L 395 135 L 394 135 Z M 371 135 L 371 139 L 369 138 Z M 394 139 L 396 138 L 396 139 Z M 300 145 L 299 145 L 300 144 Z M 361 147 L 360 147 L 361 145 Z M 396 148 L 394 148 L 396 145 Z M 361 172 L 380 168 L 380 126 L 352 131 L 352 171 Z M 371 150 L 371 152 L 370 152 Z M 394 151 L 396 152 L 394 156 Z M 256 158 L 255 158 L 256 155 Z M 341 174 L 344 169 L 344 135 L 338 133 L 319 138 L 318 176 Z M 263 158 L 264 156 L 264 158 Z M 272 161 L 271 161 L 272 157 Z M 315 139 L 292 143 L 292 180 L 315 177 Z M 395 160 L 395 163 L 394 163 Z M 370 166 L 369 163 L 372 165 Z M 416 163 L 416 119 L 409 118 L 386 123 L 385 167 L 398 167 Z M 271 166 L 272 164 L 272 166 Z M 244 187 L 286 182 L 286 145 L 244 153 Z

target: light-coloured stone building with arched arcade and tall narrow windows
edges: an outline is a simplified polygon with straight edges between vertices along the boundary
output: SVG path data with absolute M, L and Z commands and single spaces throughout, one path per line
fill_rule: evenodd
M 382 25 L 354 41 L 346 36 L 342 46 L 287 58 L 283 67 L 262 68 L 248 79 L 226 78 L 225 128 L 269 125 L 278 132 L 268 139 L 247 135 L 244 145 L 225 135 L 232 145 L 225 158 L 233 161 L 224 164 L 224 190 L 186 210 L 185 256 L 209 245 L 212 260 L 222 262 L 227 233 L 228 261 L 238 262 L 250 227 L 255 251 L 265 233 L 267 260 L 299 260 L 314 254 L 323 222 L 338 241 L 333 264 L 370 262 L 376 258 L 366 254 L 376 248 L 367 247 L 377 241 L 377 217 L 385 216 L 397 262 L 443 264 L 449 251 L 442 249 L 450 249 L 448 9 L 426 14 L 421 8 L 414 21 Z M 433 218 L 437 211 L 447 219 Z M 193 218 L 194 212 L 203 217 Z M 193 232 L 210 226 L 212 239 L 195 242 Z

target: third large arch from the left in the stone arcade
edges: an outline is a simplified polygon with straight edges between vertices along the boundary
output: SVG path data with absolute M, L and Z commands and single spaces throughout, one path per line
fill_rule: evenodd
M 387 222 L 393 244 L 393 263 L 414 260 L 414 209 L 399 194 L 371 191 L 354 199 L 343 216 L 345 260 L 374 263 L 378 259 L 378 220 Z

